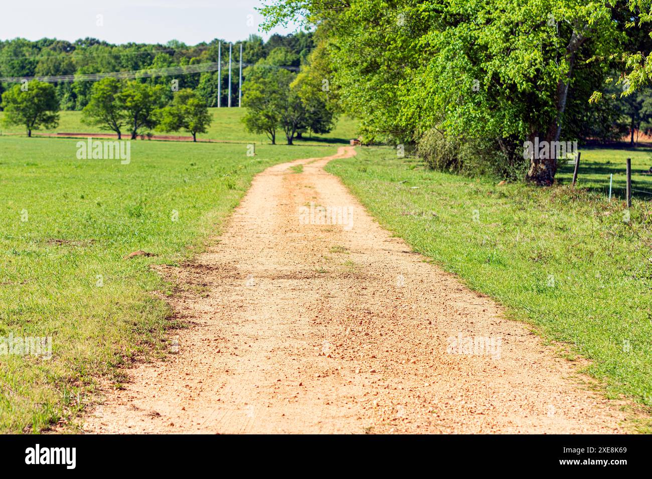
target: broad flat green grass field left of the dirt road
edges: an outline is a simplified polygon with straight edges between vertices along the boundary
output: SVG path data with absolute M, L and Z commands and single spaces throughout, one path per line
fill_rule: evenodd
M 173 286 L 151 265 L 201 250 L 265 167 L 334 152 L 134 141 L 123 165 L 78 160 L 76 141 L 0 137 L 0 336 L 52 336 L 53 350 L 0 355 L 0 433 L 68 419 L 97 375 L 121 383 L 117 366 L 162 353 L 175 323 L 151 292 Z M 136 250 L 155 256 L 123 259 Z

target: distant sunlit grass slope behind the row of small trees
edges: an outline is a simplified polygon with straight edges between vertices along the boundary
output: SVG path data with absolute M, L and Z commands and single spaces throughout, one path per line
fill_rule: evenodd
M 269 139 L 265 134 L 251 134 L 244 130 L 244 124 L 242 123 L 242 118 L 246 113 L 244 108 L 209 108 L 209 112 L 213 115 L 213 123 L 209 127 L 208 132 L 204 134 L 198 134 L 198 139 L 212 139 L 214 141 L 230 141 L 235 143 L 241 142 L 250 142 L 258 144 L 268 144 L 270 143 Z M 0 111 L 0 119 L 2 119 L 4 113 Z M 59 126 L 53 130 L 35 130 L 32 132 L 33 136 L 38 136 L 39 134 L 52 134 L 57 132 L 66 132 L 66 133 L 112 133 L 107 130 L 100 130 L 96 126 L 88 126 L 81 122 L 82 112 L 81 111 L 61 111 L 59 112 Z M 348 143 L 349 139 L 354 138 L 356 123 L 355 121 L 348 118 L 341 118 L 340 121 L 336 124 L 336 127 L 332 132 L 320 135 L 319 137 L 310 138 L 310 135 L 306 136 L 304 139 L 297 140 L 297 144 L 306 144 L 306 145 L 319 145 L 324 143 Z M 10 126 L 9 128 L 5 126 L 0 126 L 0 135 L 7 134 L 25 134 L 25 128 L 23 126 Z M 183 130 L 179 132 L 172 133 L 158 133 L 160 135 L 173 135 L 173 136 L 190 136 L 188 132 Z M 129 138 L 129 134 L 125 128 L 123 131 L 123 138 Z M 276 135 L 276 143 L 282 145 L 286 143 L 286 139 L 283 135 L 282 130 L 278 130 Z

